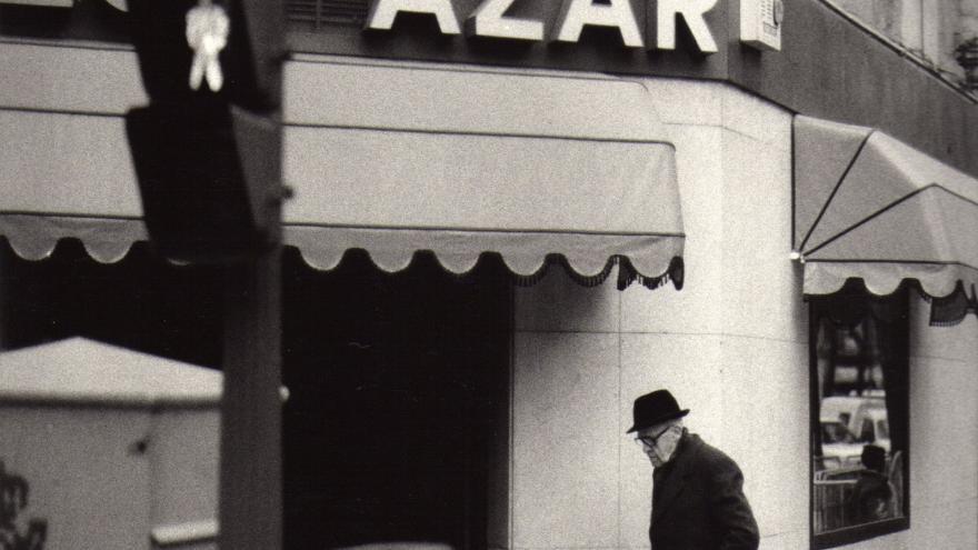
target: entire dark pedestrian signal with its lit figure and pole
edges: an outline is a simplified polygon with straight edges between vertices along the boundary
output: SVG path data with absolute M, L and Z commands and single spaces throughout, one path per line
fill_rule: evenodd
M 130 0 L 126 130 L 150 241 L 224 270 L 222 550 L 282 548 L 281 0 Z

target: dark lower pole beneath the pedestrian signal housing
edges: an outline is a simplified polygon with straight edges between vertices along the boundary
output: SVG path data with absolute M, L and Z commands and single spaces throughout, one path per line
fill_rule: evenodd
M 220 548 L 282 548 L 281 246 L 226 269 Z

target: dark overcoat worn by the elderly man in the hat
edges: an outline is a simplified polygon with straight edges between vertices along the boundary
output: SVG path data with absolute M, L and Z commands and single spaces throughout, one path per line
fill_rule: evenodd
M 756 550 L 757 521 L 744 476 L 730 457 L 683 431 L 666 464 L 656 468 L 652 550 Z

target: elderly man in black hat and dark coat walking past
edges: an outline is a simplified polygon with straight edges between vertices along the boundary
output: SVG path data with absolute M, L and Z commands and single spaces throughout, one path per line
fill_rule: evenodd
M 655 468 L 652 550 L 756 550 L 757 521 L 740 468 L 682 427 L 688 413 L 668 390 L 635 400 L 628 433 Z

